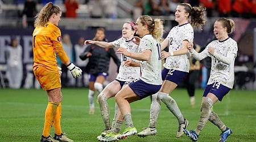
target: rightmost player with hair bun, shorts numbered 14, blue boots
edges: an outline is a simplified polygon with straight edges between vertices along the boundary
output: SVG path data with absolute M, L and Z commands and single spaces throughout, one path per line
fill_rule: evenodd
M 192 140 L 197 141 L 199 133 L 203 130 L 209 120 L 221 130 L 219 142 L 224 142 L 232 133 L 232 130 L 225 126 L 218 115 L 211 110 L 212 106 L 229 93 L 234 85 L 234 61 L 237 56 L 237 42 L 229 37 L 234 31 L 234 21 L 232 19 L 217 19 L 213 26 L 213 34 L 217 40 L 210 42 L 204 51 L 197 53 L 193 49 L 193 43 L 189 42 L 187 47 L 196 60 L 203 60 L 206 57 L 212 59 L 210 77 L 205 87 L 201 115 L 195 130 L 185 130 L 185 134 Z

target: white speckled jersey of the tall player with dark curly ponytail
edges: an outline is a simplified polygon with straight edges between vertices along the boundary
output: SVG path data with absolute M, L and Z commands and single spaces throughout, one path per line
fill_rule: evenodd
M 169 52 L 177 51 L 182 48 L 183 40 L 193 41 L 194 31 L 193 27 L 189 23 L 182 24 L 180 26 L 175 26 L 171 29 L 167 35 L 169 40 Z M 189 56 L 179 55 L 167 57 L 164 63 L 164 68 L 175 69 L 183 72 L 189 72 Z

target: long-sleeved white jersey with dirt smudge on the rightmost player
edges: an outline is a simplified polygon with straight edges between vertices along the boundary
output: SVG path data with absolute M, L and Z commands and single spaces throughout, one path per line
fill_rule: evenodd
M 237 50 L 238 50 L 237 42 L 230 37 L 224 41 L 214 40 L 207 45 L 204 51 L 202 51 L 199 54 L 196 53 L 196 56 L 197 56 L 196 59 L 201 60 L 207 56 L 211 57 L 212 59 L 212 67 L 210 69 L 210 77 L 207 84 L 210 85 L 214 82 L 219 82 L 222 85 L 232 89 L 234 85 L 235 58 L 233 59 L 232 64 L 230 65 L 225 64 L 224 62 L 217 60 L 216 57 L 209 54 L 208 52 L 209 47 L 214 48 L 214 52 L 224 57 L 226 57 L 228 53 L 234 53 L 236 57 Z

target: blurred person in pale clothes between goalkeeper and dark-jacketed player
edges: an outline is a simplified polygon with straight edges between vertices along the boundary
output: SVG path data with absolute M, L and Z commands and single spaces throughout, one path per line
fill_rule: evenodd
M 85 67 L 89 59 L 81 60 L 79 56 L 83 53 L 88 45 L 84 45 L 84 37 L 80 37 L 77 44 L 75 44 L 75 64 L 82 70 L 82 75 L 76 78 L 76 86 L 84 87 L 89 85 L 89 75 L 85 72 Z

